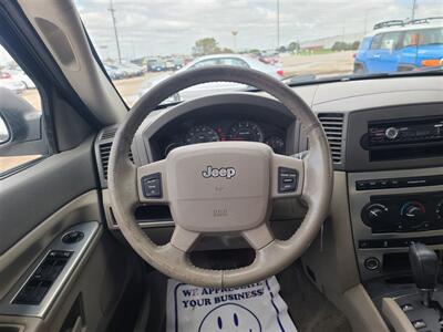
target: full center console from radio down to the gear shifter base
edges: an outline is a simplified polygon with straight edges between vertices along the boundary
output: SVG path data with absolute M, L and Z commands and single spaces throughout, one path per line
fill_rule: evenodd
M 435 283 L 443 252 L 442 110 L 427 104 L 348 114 L 342 167 L 360 279 L 395 331 L 443 329 L 443 291 Z

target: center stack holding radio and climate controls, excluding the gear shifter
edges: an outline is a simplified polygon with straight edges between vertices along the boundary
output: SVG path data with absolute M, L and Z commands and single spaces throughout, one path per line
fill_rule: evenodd
M 347 114 L 353 243 L 363 282 L 410 273 L 408 247 L 443 249 L 441 104 Z

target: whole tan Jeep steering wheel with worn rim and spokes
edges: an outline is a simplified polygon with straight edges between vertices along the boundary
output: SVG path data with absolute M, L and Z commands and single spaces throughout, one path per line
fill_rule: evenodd
M 169 95 L 209 82 L 247 84 L 277 98 L 303 124 L 307 155 L 277 155 L 262 143 L 215 142 L 177 147 L 163 160 L 134 166 L 128 152 L 145 117 Z M 173 75 L 133 106 L 111 148 L 107 185 L 123 236 L 147 263 L 194 286 L 237 287 L 278 273 L 309 247 L 329 211 L 332 164 L 317 116 L 290 87 L 255 70 L 212 66 Z M 301 198 L 308 212 L 284 241 L 275 238 L 268 224 L 272 199 L 285 197 Z M 140 228 L 134 218 L 140 204 L 169 205 L 175 229 L 167 245 L 155 245 Z M 233 234 L 255 249 L 249 266 L 209 270 L 190 262 L 188 252 L 200 235 Z

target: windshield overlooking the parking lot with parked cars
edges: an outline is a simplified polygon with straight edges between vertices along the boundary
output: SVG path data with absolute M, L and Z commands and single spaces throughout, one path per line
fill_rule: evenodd
M 206 65 L 250 68 L 293 84 L 443 66 L 442 0 L 75 3 L 128 106 L 166 77 Z M 208 83 L 165 102 L 245 87 Z

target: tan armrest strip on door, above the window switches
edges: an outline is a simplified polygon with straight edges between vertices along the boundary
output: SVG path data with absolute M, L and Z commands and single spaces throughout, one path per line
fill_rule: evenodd
M 64 229 L 81 221 L 102 222 L 99 194 L 87 191 L 60 208 L 0 256 L 0 299 L 3 298 L 39 255 Z M 18 220 L 20 221 L 20 220 Z

